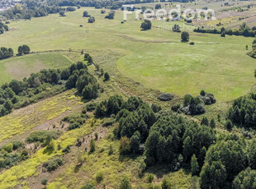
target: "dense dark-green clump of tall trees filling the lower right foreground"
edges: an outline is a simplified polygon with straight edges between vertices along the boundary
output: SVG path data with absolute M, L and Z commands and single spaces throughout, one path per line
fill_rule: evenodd
M 211 124 L 198 125 L 137 97 L 111 96 L 97 105 L 95 115 L 116 118 L 119 124 L 113 132 L 120 140 L 121 155 L 145 154 L 141 173 L 164 164 L 172 171 L 190 169 L 200 177 L 201 188 L 211 188 L 212 183 L 216 188 L 255 186 L 255 173 L 250 169 L 255 168 L 255 140 L 217 132 Z

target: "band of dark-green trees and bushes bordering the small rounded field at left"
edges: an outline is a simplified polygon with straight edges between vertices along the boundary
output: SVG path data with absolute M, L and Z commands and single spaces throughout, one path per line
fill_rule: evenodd
M 49 88 L 51 90 L 47 90 Z M 76 88 L 83 99 L 97 98 L 99 85 L 83 62 L 62 70 L 44 69 L 23 81 L 12 80 L 0 88 L 0 116 L 11 113 L 12 108 L 22 108 L 72 88 Z

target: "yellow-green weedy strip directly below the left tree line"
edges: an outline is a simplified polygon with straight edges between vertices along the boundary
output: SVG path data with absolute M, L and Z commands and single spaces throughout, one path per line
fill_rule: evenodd
M 62 95 L 57 95 L 43 102 L 37 103 L 33 111 L 30 108 L 22 112 L 14 112 L 0 118 L 0 141 L 11 138 L 15 135 L 21 135 L 25 131 L 44 123 L 47 120 L 58 117 L 61 113 L 71 110 L 70 106 L 77 103 L 74 100 L 73 104 L 69 103 L 67 96 L 72 91 L 67 91 Z M 72 92 L 73 94 L 73 92 Z

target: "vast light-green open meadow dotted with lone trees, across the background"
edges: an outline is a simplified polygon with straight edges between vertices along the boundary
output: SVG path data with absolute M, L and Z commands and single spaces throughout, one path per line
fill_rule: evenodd
M 82 16 L 84 10 L 95 16 L 95 23 L 87 23 L 88 19 Z M 190 31 L 190 40 L 195 43 L 192 46 L 181 43 L 180 34 L 168 30 L 153 27 L 141 31 L 141 21 L 135 21 L 134 15 L 121 24 L 120 11 L 116 12 L 115 20 L 104 19 L 100 10 L 92 8 L 66 15 L 12 22 L 12 31 L 1 35 L 0 43 L 2 46 L 12 44 L 15 49 L 20 44 L 28 44 L 34 51 L 110 49 L 123 54 L 117 61 L 122 74 L 149 88 L 177 95 L 197 95 L 204 89 L 219 100 L 230 100 L 243 95 L 254 84 L 255 60 L 249 58 L 245 50 L 252 38 L 220 38 L 220 35 Z M 153 21 L 154 26 L 168 24 L 173 25 Z

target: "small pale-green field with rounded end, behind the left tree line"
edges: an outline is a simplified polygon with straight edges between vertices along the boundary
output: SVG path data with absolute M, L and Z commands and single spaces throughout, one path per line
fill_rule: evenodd
M 72 62 L 60 53 L 38 53 L 0 61 L 0 85 L 22 80 L 45 68 L 68 67 Z

